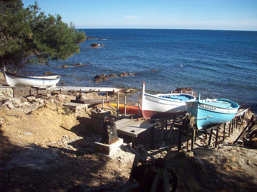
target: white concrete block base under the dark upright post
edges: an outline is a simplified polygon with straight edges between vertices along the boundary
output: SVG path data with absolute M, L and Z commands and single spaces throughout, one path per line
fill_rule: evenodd
M 95 150 L 95 152 L 100 152 L 105 155 L 110 155 L 110 154 L 120 150 L 121 147 L 123 146 L 123 139 L 121 139 L 121 138 L 118 138 L 118 140 L 111 145 L 103 144 L 100 142 L 101 142 L 101 140 L 98 140 L 97 142 L 94 143 L 94 150 Z

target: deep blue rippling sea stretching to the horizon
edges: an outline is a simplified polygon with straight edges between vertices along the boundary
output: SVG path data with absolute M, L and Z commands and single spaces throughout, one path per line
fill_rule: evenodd
M 135 89 L 147 93 L 192 88 L 201 98 L 226 98 L 257 114 L 257 31 L 179 29 L 79 29 L 87 37 L 80 53 L 21 73 L 61 75 L 57 86 Z M 97 42 L 98 49 L 90 49 Z M 79 64 L 79 65 L 78 65 Z M 67 68 L 60 68 L 61 66 Z M 95 82 L 98 74 L 133 73 Z

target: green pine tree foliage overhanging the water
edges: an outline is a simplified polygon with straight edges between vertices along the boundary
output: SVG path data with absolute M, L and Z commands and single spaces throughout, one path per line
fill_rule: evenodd
M 21 0 L 0 0 L 0 67 L 48 64 L 79 53 L 85 33 L 62 22 L 60 15 L 40 12 L 38 4 L 23 8 Z

